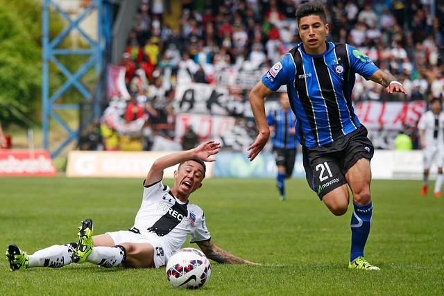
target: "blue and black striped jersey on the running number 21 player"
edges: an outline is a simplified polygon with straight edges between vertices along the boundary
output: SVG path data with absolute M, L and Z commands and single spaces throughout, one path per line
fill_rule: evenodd
M 327 42 L 323 54 L 309 55 L 300 43 L 267 71 L 262 82 L 273 91 L 287 85 L 298 141 L 315 147 L 359 128 L 352 106 L 355 74 L 368 79 L 377 69 L 349 44 Z

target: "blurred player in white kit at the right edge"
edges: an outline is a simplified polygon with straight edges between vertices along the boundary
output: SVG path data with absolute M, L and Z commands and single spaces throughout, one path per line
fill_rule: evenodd
M 438 166 L 438 174 L 435 180 L 434 195 L 438 198 L 441 196 L 441 186 L 443 185 L 444 164 L 444 112 L 439 98 L 432 98 L 430 101 L 430 110 L 422 114 L 418 121 L 418 132 L 424 167 L 421 194 L 427 194 L 430 166 L 435 161 Z

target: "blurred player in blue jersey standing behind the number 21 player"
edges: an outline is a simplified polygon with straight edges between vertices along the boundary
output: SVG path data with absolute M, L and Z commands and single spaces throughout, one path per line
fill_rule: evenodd
M 280 109 L 272 110 L 266 117 L 270 126 L 273 139 L 273 153 L 278 166 L 278 185 L 280 200 L 287 199 L 285 194 L 285 179 L 291 177 L 296 159 L 296 116 L 290 108 L 289 95 L 287 92 L 280 93 Z

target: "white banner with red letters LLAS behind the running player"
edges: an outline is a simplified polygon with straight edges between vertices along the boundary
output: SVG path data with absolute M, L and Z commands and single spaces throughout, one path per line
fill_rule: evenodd
M 403 125 L 416 126 L 426 107 L 426 101 L 364 101 L 356 103 L 355 112 L 366 128 L 402 130 Z

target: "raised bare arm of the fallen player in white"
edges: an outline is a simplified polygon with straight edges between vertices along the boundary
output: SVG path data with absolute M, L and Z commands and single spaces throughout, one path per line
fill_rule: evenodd
M 196 148 L 171 153 L 156 159 L 150 171 L 148 171 L 148 175 L 146 175 L 145 186 L 159 182 L 164 176 L 165 168 L 175 166 L 176 164 L 185 162 L 185 160 L 199 158 L 205 162 L 214 162 L 215 159 L 210 157 L 219 153 L 219 148 L 221 148 L 221 143 L 210 140 L 201 143 Z

